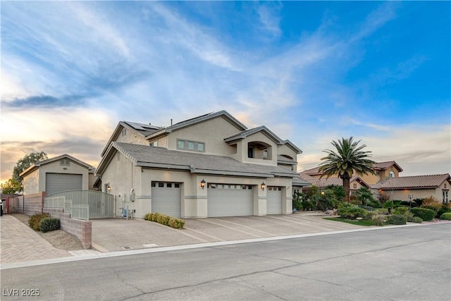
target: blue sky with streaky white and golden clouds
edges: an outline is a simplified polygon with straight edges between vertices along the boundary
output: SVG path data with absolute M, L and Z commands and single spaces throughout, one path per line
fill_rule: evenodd
M 97 166 L 119 121 L 221 110 L 299 172 L 352 136 L 400 176 L 451 173 L 450 1 L 0 5 L 2 181 L 30 152 Z

